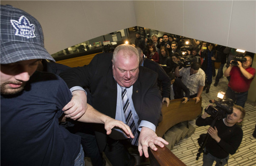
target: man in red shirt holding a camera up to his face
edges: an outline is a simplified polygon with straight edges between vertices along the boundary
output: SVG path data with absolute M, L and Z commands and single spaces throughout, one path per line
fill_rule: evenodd
M 246 55 L 246 61 L 231 61 L 231 65 L 225 70 L 224 76 L 230 76 L 226 97 L 231 98 L 236 105 L 244 107 L 247 100 L 250 83 L 255 76 L 255 69 L 251 68 L 253 59 Z M 237 62 L 237 66 L 233 62 Z

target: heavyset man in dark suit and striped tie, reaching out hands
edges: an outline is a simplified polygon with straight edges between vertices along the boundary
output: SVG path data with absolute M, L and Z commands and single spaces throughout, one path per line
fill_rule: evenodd
M 95 109 L 128 124 L 125 117 L 126 108 L 122 105 L 125 91 L 136 127 L 133 133 L 139 135 L 134 138 L 138 138 L 138 141 L 133 143 L 134 139 L 131 139 L 131 143 L 138 146 L 140 156 L 144 152 L 148 158 L 148 147 L 156 151 L 155 144 L 160 147 L 164 146 L 163 143 L 168 144 L 155 133 L 162 106 L 160 90 L 157 87 L 157 73 L 139 65 L 139 53 L 133 46 L 119 45 L 113 53 L 113 58 L 112 53 L 100 53 L 89 65 L 68 69 L 61 77 L 75 95 L 63 110 L 69 109 L 69 112 L 73 112 L 86 109 L 86 95 L 81 87 L 88 86 Z M 76 86 L 80 86 L 80 90 Z M 118 130 L 114 130 L 108 137 L 103 132 L 96 132 L 96 138 L 99 149 L 104 150 L 113 166 L 134 165 L 133 157 L 129 155 L 123 143 L 128 139 Z

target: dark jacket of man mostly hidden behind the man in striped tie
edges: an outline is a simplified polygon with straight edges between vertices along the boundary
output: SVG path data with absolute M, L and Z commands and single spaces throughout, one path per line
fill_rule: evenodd
M 163 68 L 158 63 L 151 61 L 147 58 L 144 58 L 143 66 L 145 68 L 149 68 L 149 69 L 157 72 L 158 85 L 159 85 L 159 87 L 162 87 L 163 97 L 169 97 L 170 90 L 171 90 L 171 79 L 166 74 L 166 72 L 163 70 Z

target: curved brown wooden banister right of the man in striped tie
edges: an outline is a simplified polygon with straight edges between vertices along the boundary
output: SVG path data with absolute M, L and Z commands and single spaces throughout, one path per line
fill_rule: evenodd
M 190 99 L 185 104 L 181 99 L 170 100 L 169 107 L 163 105 L 163 120 L 158 124 L 156 133 L 163 137 L 167 130 L 183 121 L 195 119 L 201 114 L 202 98 L 195 104 L 195 99 Z M 149 159 L 151 166 L 186 166 L 179 158 L 177 158 L 166 146 L 161 148 L 157 146 L 157 151 L 149 148 Z

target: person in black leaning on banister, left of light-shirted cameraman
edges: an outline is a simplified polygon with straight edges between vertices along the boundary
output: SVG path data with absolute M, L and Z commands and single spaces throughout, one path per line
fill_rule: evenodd
M 177 98 L 183 98 L 183 103 L 186 103 L 189 101 L 189 88 L 186 87 L 185 84 L 181 81 L 181 79 L 176 78 L 174 73 L 170 72 L 167 74 L 170 79 L 171 79 L 171 84 L 172 84 L 172 90 L 173 90 L 173 96 L 175 99 Z M 185 92 L 186 97 L 184 97 L 183 92 Z

